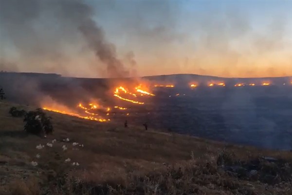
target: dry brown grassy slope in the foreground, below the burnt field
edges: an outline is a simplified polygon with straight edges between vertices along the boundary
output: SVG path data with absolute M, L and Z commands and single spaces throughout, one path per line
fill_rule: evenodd
M 0 102 L 0 194 L 2 195 L 291 195 L 292 153 L 235 146 L 196 137 L 123 128 L 47 112 L 54 133 L 46 138 L 23 131 L 23 118 Z M 63 139 L 69 138 L 69 142 Z M 46 144 L 53 139 L 53 147 Z M 73 142 L 83 144 L 84 147 Z M 38 150 L 37 145 L 45 147 Z M 63 151 L 62 146 L 67 150 Z M 36 155 L 40 155 L 37 158 Z M 283 159 L 288 176 L 265 181 L 236 176 L 220 163 L 244 164 L 259 156 Z M 70 158 L 71 162 L 65 162 Z M 240 160 L 240 161 L 238 161 Z M 37 166 L 31 164 L 38 163 Z M 73 166 L 78 162 L 79 166 Z M 261 170 L 280 173 L 275 163 Z M 281 170 L 283 167 L 281 168 Z M 285 171 L 284 170 L 284 171 Z M 261 171 L 261 173 L 266 173 Z M 285 173 L 286 173 L 285 172 Z M 287 174 L 286 173 L 286 174 Z M 263 178 L 264 177 L 264 178 Z

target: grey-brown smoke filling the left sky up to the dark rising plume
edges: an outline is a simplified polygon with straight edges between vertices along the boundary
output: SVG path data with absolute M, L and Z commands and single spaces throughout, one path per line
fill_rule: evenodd
M 115 45 L 93 20 L 93 9 L 83 1 L 4 0 L 0 7 L 1 37 L 6 38 L 1 44 L 13 44 L 15 63 L 26 71 L 87 75 L 93 70 L 98 76 L 105 69 L 106 77 L 129 76 Z M 3 65 L 13 59 L 8 53 L 1 49 L 1 70 L 17 70 Z

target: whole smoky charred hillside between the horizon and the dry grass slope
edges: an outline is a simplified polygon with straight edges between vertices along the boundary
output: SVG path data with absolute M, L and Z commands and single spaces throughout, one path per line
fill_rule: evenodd
M 292 149 L 292 78 L 216 78 L 197 75 L 139 79 L 64 78 L 58 75 L 2 73 L 1 87 L 18 103 L 76 109 L 92 99 L 109 110 L 91 113 L 108 122 L 188 134 L 261 148 Z M 155 96 L 132 97 L 136 104 L 113 96 L 115 87 L 127 90 L 139 83 Z M 190 87 L 196 82 L 198 86 Z M 219 85 L 220 82 L 224 86 Z M 262 85 L 268 82 L 269 85 Z M 151 83 L 151 84 L 149 84 Z M 163 83 L 164 87 L 155 87 Z M 208 86 L 214 83 L 214 86 Z M 238 86 L 237 83 L 245 83 Z M 249 85 L 255 83 L 255 85 Z M 284 84 L 285 83 L 285 84 Z M 171 84 L 173 87 L 165 87 Z M 126 96 L 130 98 L 131 96 Z M 55 105 L 54 103 L 54 105 Z M 125 109 L 118 109 L 125 108 Z M 51 107 L 52 108 L 52 107 Z

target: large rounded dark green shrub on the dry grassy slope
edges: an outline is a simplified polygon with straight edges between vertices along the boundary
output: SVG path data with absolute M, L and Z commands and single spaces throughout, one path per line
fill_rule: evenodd
M 26 113 L 23 121 L 26 122 L 24 131 L 28 133 L 40 135 L 53 132 L 51 117 L 47 117 L 41 108 Z

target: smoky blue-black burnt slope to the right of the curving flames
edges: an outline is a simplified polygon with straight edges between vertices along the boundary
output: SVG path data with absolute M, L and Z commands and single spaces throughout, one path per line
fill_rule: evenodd
M 112 117 L 141 126 L 147 122 L 150 128 L 163 131 L 292 149 L 292 86 L 168 88 L 155 94 L 145 98 L 146 105 L 128 105 L 129 116 Z

